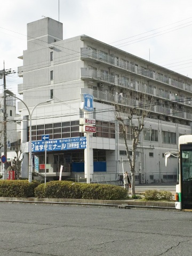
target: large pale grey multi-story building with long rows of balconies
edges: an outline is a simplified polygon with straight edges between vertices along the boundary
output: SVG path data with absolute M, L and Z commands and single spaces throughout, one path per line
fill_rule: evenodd
M 191 133 L 192 79 L 86 35 L 63 40 L 62 23 L 50 18 L 27 25 L 27 50 L 20 58 L 23 66 L 18 74 L 23 84 L 18 85 L 18 93 L 28 108 L 53 99 L 34 110 L 35 171 L 44 172 L 42 135 L 49 134 L 47 178 L 58 179 L 61 165 L 62 175 L 83 177 L 84 148 L 67 140 L 83 137 L 79 133 L 81 93 L 94 96 L 90 117 L 96 119 L 97 133 L 90 138 L 91 178 L 116 179 L 122 172 L 122 157 L 124 170 L 130 170 L 114 103 L 138 106 L 137 95 L 142 92 L 153 97 L 153 108 L 140 136 L 135 178 L 140 183 L 176 179 L 177 158 L 165 167 L 164 153 L 178 151 L 179 135 Z M 18 110 L 28 115 L 22 102 Z M 127 139 L 131 151 L 131 130 Z M 62 141 L 68 144 L 62 146 Z

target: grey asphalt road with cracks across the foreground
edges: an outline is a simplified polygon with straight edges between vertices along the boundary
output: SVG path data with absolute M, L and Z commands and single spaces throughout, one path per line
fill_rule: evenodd
M 0 204 L 3 256 L 191 256 L 191 212 Z

